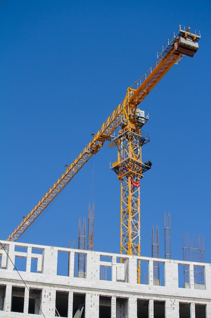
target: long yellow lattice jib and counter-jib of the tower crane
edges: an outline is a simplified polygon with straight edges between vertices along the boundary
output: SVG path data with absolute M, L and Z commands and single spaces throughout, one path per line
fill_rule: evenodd
M 176 33 L 173 33 L 173 38 L 168 39 L 166 45 L 162 46 L 160 53 L 157 55 L 155 65 L 136 81 L 134 85 L 129 87 L 125 98 L 102 124 L 92 141 L 81 151 L 75 161 L 66 169 L 57 182 L 54 183 L 47 194 L 28 213 L 28 215 L 24 217 L 24 220 L 7 238 L 7 241 L 16 241 L 49 206 L 57 195 L 61 193 L 62 189 L 89 161 L 93 154 L 96 154 L 101 149 L 104 142 L 108 140 L 109 136 L 122 122 L 126 108 L 137 107 L 167 71 L 170 70 L 175 63 L 178 63 L 184 55 L 192 57 L 195 54 L 198 49 L 198 40 L 200 38 L 199 31 L 197 31 L 196 34 L 191 34 L 184 26 L 179 26 L 179 30 Z

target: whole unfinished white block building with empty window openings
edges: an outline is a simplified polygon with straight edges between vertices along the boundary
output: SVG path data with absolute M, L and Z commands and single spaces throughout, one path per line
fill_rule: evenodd
M 211 316 L 211 264 L 137 256 L 124 256 L 122 262 L 122 255 L 114 253 L 2 244 L 6 249 L 1 252 L 0 317 Z M 79 272 L 81 256 L 85 272 Z M 140 261 L 143 279 L 138 283 Z M 159 264 L 159 282 L 154 279 L 154 263 Z M 200 283 L 197 271 L 204 277 Z

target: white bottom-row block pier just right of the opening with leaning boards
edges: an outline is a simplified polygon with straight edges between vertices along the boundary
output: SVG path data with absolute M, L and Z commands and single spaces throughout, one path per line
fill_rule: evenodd
M 86 294 L 85 318 L 99 318 L 99 302 L 99 294 Z

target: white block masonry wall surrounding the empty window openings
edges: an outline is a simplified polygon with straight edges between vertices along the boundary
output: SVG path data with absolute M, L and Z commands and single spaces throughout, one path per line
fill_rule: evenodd
M 99 318 L 100 296 L 107 296 L 111 301 L 111 318 L 136 318 L 137 300 L 148 300 L 149 318 L 154 317 L 154 301 L 165 302 L 165 317 L 179 318 L 179 303 L 190 304 L 191 318 L 195 318 L 195 304 L 206 305 L 206 317 L 211 317 L 211 264 L 183 262 L 176 260 L 152 259 L 147 257 L 126 256 L 127 261 L 121 263 L 121 255 L 97 251 L 82 251 L 86 253 L 87 269 L 85 278 L 75 277 L 75 254 L 81 250 L 55 246 L 42 246 L 2 241 L 7 244 L 7 256 L 0 250 L 2 262 L 0 266 L 0 288 L 5 288 L 5 298 L 0 293 L 0 305 L 4 298 L 3 310 L 0 317 L 29 317 L 42 316 L 28 313 L 29 291 L 26 288 L 41 290 L 41 310 L 46 318 L 55 317 L 56 292 L 68 292 L 68 317 L 72 318 L 73 295 L 85 296 L 85 317 Z M 21 251 L 19 249 L 21 248 Z M 36 252 L 34 252 L 34 250 Z M 39 252 L 41 251 L 41 252 Z M 58 252 L 66 252 L 69 256 L 67 276 L 57 275 Z M 14 270 L 15 258 L 21 257 L 26 261 L 26 268 L 19 273 Z M 108 260 L 106 260 L 108 257 Z M 103 259 L 103 261 L 101 260 Z M 37 259 L 37 272 L 31 272 L 31 260 Z M 137 283 L 137 260 L 148 262 L 148 284 Z M 164 263 L 164 285 L 154 285 L 153 261 Z M 12 263 L 13 262 L 13 263 Z M 188 264 L 190 272 L 190 288 L 179 287 L 178 265 Z M 204 289 L 197 289 L 194 283 L 194 265 L 203 266 L 205 273 Z M 63 266 L 63 264 L 60 264 Z M 107 280 L 100 279 L 100 266 L 111 268 Z M 26 285 L 25 285 L 26 284 Z M 12 288 L 25 288 L 24 312 L 11 311 Z M 124 309 L 118 305 L 118 299 L 125 300 Z M 1 308 L 1 306 L 0 306 Z

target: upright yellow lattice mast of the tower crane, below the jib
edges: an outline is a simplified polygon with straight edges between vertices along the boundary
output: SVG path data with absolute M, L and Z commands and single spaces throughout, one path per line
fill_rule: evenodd
M 142 160 L 142 146 L 149 142 L 149 135 L 141 128 L 148 120 L 148 113 L 136 110 L 130 121 L 122 123 L 110 147 L 117 146 L 117 160 L 110 168 L 120 180 L 120 252 L 140 255 L 140 180 L 151 168 L 151 162 Z

